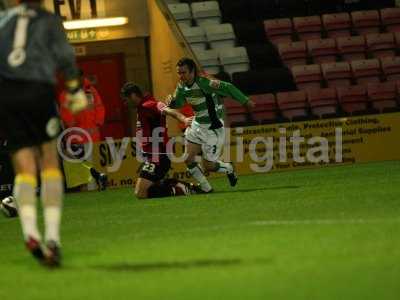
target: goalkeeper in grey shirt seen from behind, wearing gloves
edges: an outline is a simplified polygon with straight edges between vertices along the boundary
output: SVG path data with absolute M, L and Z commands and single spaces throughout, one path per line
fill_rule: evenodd
M 68 88 L 72 112 L 86 108 L 75 55 L 61 20 L 39 0 L 0 12 L 0 131 L 8 141 L 15 171 L 13 196 L 27 249 L 47 266 L 59 266 L 63 179 L 56 138 L 56 71 Z M 39 154 L 39 157 L 37 156 Z M 45 240 L 37 226 L 36 175 L 41 176 Z

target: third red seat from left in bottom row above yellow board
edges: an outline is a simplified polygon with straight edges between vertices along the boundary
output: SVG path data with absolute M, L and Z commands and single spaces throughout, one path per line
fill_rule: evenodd
M 305 91 L 278 93 L 276 98 L 283 117 L 290 121 L 308 117 L 308 103 Z

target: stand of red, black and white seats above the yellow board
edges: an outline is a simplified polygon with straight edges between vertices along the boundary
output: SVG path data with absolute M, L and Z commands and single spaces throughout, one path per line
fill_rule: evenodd
M 399 110 L 394 0 L 177 2 L 178 23 L 197 25 L 181 29 L 203 70 L 257 104 L 239 113 L 227 101 L 233 125 Z

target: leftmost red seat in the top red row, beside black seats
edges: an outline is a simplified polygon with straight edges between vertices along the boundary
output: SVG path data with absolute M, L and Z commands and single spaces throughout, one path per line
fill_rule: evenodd
M 289 18 L 266 20 L 264 29 L 268 39 L 274 44 L 292 41 L 293 24 Z

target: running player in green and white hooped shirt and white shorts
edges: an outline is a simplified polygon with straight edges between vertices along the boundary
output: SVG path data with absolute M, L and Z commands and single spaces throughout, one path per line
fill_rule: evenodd
M 212 191 L 210 183 L 195 161 L 196 156 L 202 153 L 205 169 L 226 174 L 230 185 L 235 186 L 238 179 L 233 164 L 219 160 L 225 142 L 224 105 L 221 97 L 231 97 L 249 108 L 254 103 L 228 82 L 199 76 L 196 63 L 190 58 L 182 58 L 177 63 L 177 72 L 180 83 L 167 102 L 171 108 L 180 108 L 189 103 L 195 113 L 191 126 L 185 131 L 185 163 L 188 171 L 204 192 Z

